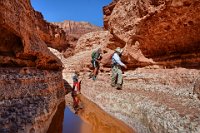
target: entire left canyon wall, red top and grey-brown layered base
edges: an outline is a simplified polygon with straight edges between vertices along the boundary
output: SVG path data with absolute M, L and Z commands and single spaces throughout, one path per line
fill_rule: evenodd
M 65 42 L 29 0 L 0 1 L 0 132 L 46 132 L 64 98 L 61 61 L 47 48 Z

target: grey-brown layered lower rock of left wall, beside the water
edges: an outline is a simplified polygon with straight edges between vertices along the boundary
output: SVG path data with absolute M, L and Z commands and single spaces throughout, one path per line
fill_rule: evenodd
M 64 98 L 62 73 L 28 67 L 0 73 L 0 132 L 46 132 Z

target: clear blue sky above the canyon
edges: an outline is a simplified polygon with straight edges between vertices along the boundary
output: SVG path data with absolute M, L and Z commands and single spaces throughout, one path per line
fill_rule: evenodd
M 87 21 L 103 26 L 102 7 L 112 0 L 31 0 L 35 10 L 49 22 Z

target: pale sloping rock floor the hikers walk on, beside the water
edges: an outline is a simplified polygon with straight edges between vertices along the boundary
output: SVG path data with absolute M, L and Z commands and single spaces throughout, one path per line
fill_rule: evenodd
M 80 57 L 62 58 L 63 77 L 69 83 Z M 200 70 L 144 67 L 126 71 L 122 90 L 110 86 L 109 71 L 100 72 L 96 81 L 88 75 L 86 69 L 81 72 L 82 95 L 136 132 L 200 132 L 200 100 L 194 93 Z

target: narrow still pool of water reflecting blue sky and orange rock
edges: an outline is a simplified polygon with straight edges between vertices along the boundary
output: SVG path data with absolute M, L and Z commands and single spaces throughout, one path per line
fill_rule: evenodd
M 84 96 L 77 114 L 72 109 L 70 94 L 59 105 L 47 133 L 133 133 L 134 131 L 120 120 L 111 117 Z

